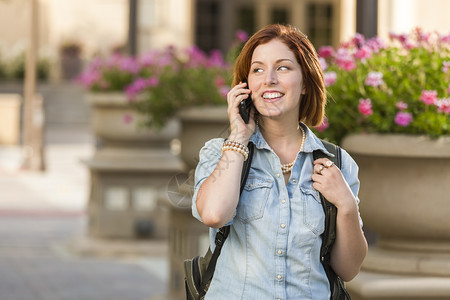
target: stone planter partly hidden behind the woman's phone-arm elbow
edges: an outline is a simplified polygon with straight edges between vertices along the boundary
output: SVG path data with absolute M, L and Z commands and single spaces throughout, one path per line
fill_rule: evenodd
M 184 260 L 204 255 L 209 245 L 208 227 L 192 216 L 191 203 L 194 168 L 206 141 L 228 137 L 227 107 L 192 107 L 178 113 L 181 124 L 181 159 L 186 172 L 178 174 L 169 184 L 169 255 L 170 278 L 168 294 L 161 299 L 183 299 Z

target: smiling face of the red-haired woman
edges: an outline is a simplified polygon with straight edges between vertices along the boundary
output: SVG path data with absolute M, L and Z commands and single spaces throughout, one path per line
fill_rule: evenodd
M 292 114 L 298 117 L 303 90 L 301 67 L 294 53 L 274 39 L 255 48 L 248 85 L 258 112 L 277 118 Z

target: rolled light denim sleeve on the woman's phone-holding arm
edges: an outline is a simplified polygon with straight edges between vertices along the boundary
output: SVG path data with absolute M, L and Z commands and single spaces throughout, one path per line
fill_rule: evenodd
M 195 168 L 194 195 L 192 196 L 192 215 L 200 222 L 203 221 L 197 210 L 197 193 L 203 182 L 212 174 L 219 163 L 222 157 L 223 142 L 223 138 L 212 139 L 206 142 L 202 149 L 200 149 L 199 162 Z

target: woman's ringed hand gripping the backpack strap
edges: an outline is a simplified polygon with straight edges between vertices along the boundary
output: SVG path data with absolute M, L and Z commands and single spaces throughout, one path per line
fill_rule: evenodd
M 328 158 L 314 161 L 313 187 L 337 208 L 355 208 L 356 199 L 338 167 Z

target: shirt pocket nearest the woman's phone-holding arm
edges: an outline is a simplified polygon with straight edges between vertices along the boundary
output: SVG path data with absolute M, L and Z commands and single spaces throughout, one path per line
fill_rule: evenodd
M 272 185 L 270 179 L 249 176 L 239 198 L 236 216 L 244 223 L 261 219 Z

